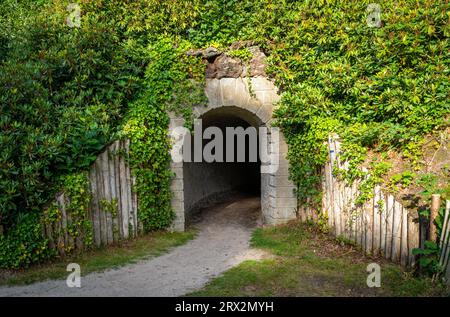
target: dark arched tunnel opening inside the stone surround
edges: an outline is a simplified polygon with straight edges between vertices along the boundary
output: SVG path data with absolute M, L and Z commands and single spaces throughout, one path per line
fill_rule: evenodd
M 194 132 L 190 136 L 192 160 L 183 163 L 187 223 L 199 219 L 205 209 L 239 199 L 252 199 L 257 202 L 260 209 L 261 163 L 258 151 L 260 122 L 251 112 L 235 107 L 210 110 L 200 119 L 194 129 L 197 129 L 197 133 L 201 131 L 198 133 L 202 136 L 201 162 L 194 159 L 195 142 L 200 139 Z M 218 130 L 221 132 L 222 143 L 219 142 L 220 137 L 217 134 L 208 133 Z M 213 140 L 216 146 L 211 147 L 210 142 Z M 210 152 L 205 152 L 208 144 Z M 205 158 L 206 153 L 213 154 L 214 161 Z

